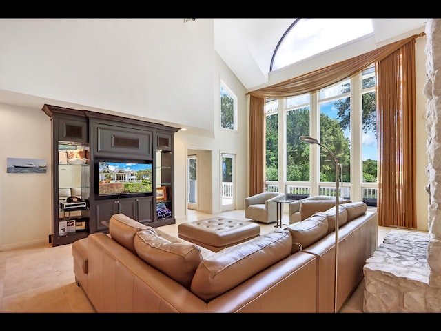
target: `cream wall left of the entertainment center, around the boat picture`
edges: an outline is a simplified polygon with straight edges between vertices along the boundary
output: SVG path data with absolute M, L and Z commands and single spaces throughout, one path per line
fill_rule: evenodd
M 0 250 L 48 243 L 52 233 L 50 119 L 0 103 Z M 8 174 L 6 158 L 45 159 L 45 174 Z

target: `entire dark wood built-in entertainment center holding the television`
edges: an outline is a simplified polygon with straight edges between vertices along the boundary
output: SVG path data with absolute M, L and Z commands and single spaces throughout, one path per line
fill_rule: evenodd
M 42 110 L 52 124 L 52 245 L 107 232 L 105 221 L 120 212 L 154 228 L 175 223 L 178 128 L 58 106 Z

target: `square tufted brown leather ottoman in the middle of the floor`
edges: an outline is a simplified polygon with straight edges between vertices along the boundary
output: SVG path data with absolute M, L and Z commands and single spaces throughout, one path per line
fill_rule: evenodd
M 260 226 L 249 221 L 214 217 L 181 223 L 179 238 L 201 245 L 213 252 L 242 243 L 260 235 Z

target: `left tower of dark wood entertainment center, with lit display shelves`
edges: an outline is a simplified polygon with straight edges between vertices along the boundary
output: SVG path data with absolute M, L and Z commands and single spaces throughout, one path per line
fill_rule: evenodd
M 52 233 L 54 246 L 88 237 L 88 120 L 82 112 L 44 106 L 52 122 Z M 81 157 L 81 161 L 79 161 Z M 70 203 L 70 197 L 79 201 Z

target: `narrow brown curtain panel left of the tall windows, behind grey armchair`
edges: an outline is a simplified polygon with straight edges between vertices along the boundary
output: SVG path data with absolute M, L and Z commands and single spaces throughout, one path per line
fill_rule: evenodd
M 265 99 L 249 100 L 249 196 L 265 192 Z

